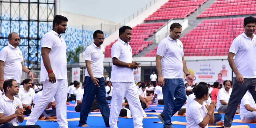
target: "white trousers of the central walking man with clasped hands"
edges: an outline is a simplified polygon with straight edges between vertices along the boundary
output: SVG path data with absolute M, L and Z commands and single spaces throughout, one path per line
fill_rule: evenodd
M 131 115 L 133 117 L 134 128 L 143 128 L 142 127 L 142 110 L 141 103 L 137 93 L 137 87 L 134 82 L 112 82 L 113 85 L 113 94 L 111 99 L 111 109 L 109 116 L 109 125 L 110 128 L 117 127 L 117 118 L 120 114 L 122 108 L 122 101 L 126 97 Z

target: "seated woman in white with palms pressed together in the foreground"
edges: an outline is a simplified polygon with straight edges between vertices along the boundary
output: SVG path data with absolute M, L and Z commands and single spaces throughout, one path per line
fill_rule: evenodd
M 186 109 L 186 128 L 208 128 L 208 123 L 214 122 L 215 101 L 209 106 L 203 102 L 209 97 L 208 87 L 205 85 L 198 85 L 192 91 L 196 102 L 192 102 Z

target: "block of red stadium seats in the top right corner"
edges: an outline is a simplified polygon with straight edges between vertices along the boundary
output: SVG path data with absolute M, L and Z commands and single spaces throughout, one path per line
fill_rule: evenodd
M 217 0 L 197 17 L 256 14 L 255 5 L 255 0 Z

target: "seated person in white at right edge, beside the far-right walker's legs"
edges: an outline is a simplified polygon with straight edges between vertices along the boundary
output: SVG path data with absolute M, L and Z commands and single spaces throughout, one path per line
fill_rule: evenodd
M 241 100 L 240 118 L 242 122 L 256 123 L 256 103 L 248 90 Z

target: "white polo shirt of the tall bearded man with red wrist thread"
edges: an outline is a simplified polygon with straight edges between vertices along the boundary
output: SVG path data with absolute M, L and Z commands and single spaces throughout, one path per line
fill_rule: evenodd
M 67 57 L 66 57 L 66 43 L 62 36 L 55 31 L 51 30 L 47 32 L 41 40 L 41 47 L 50 48 L 49 58 L 53 73 L 56 80 L 68 79 L 67 77 Z M 43 57 L 41 57 L 41 71 L 40 82 L 49 80 L 48 72 L 46 71 L 43 63 Z

